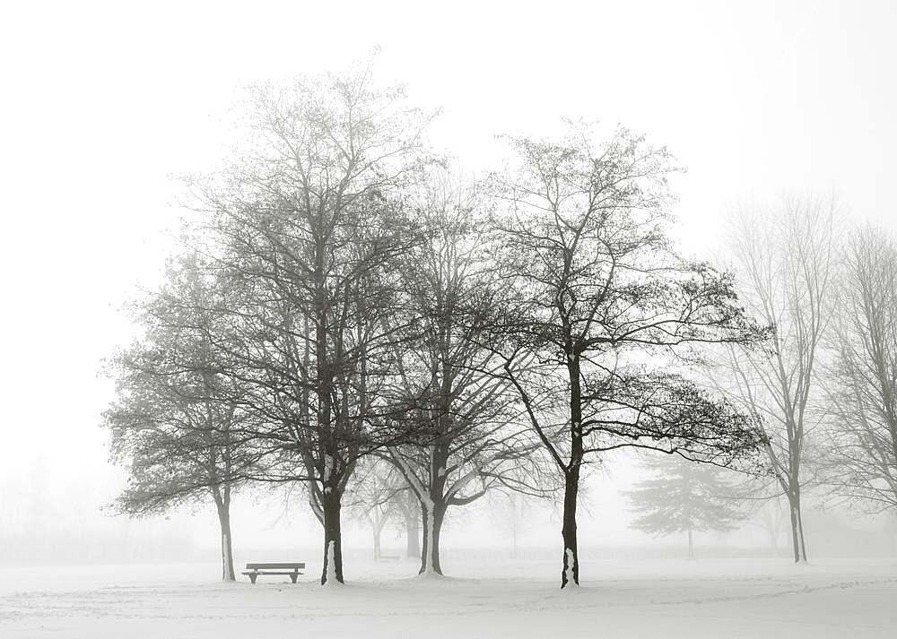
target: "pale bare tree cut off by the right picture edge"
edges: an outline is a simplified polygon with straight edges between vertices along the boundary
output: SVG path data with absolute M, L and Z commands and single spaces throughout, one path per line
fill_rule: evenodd
M 823 478 L 850 505 L 897 509 L 897 241 L 846 242 L 836 303 Z

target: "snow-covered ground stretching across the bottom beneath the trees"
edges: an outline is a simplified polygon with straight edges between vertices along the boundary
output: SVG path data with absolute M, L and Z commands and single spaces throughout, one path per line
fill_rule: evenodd
M 301 559 L 301 557 L 299 557 Z M 557 590 L 550 562 L 353 562 L 341 588 L 260 577 L 220 583 L 216 566 L 0 567 L 0 637 L 861 637 L 897 636 L 897 561 L 584 561 Z

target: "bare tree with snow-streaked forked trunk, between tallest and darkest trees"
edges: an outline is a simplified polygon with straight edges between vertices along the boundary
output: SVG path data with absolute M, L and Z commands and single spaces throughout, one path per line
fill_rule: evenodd
M 539 490 L 536 445 L 483 348 L 492 289 L 475 192 L 448 172 L 431 175 L 417 206 L 425 239 L 405 263 L 407 309 L 417 329 L 396 358 L 416 442 L 390 448 L 423 517 L 420 572 L 442 574 L 440 532 L 450 506 L 489 488 Z

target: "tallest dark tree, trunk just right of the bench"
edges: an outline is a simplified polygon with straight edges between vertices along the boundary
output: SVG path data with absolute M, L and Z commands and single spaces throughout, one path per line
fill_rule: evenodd
M 370 69 L 255 91 L 233 166 L 196 180 L 218 257 L 243 291 L 234 375 L 255 387 L 258 435 L 279 451 L 324 526 L 321 583 L 343 581 L 341 500 L 361 457 L 384 445 L 396 329 L 396 259 L 417 241 L 403 189 L 427 118 Z

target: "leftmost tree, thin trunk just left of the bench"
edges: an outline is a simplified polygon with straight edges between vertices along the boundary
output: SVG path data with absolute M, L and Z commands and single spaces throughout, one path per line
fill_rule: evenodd
M 110 456 L 126 463 L 118 511 L 146 515 L 213 501 L 222 536 L 222 579 L 234 580 L 231 494 L 257 471 L 245 436 L 241 389 L 222 376 L 208 335 L 224 293 L 196 256 L 172 260 L 158 293 L 137 305 L 144 337 L 109 365 L 116 401 L 103 413 Z

